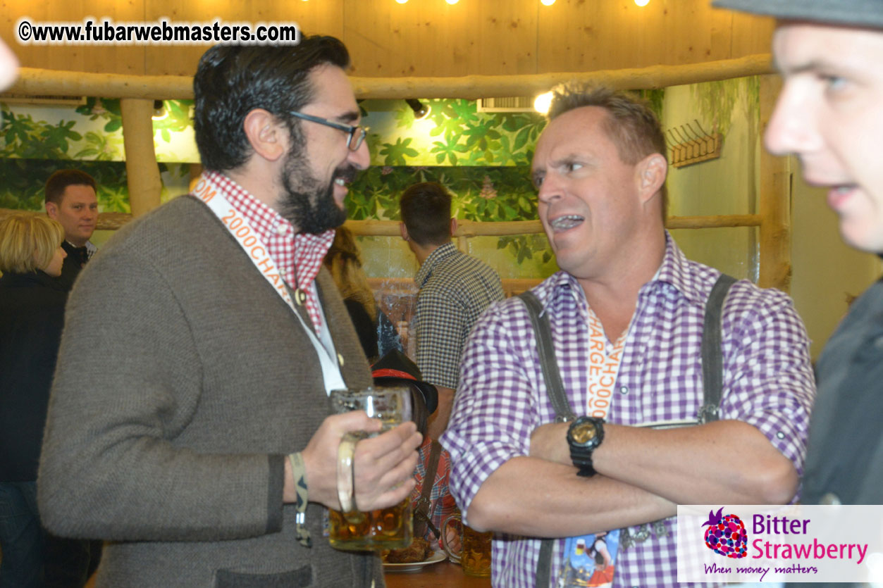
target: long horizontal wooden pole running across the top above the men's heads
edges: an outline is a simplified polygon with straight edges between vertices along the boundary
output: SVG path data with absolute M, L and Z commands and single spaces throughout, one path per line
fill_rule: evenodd
M 719 79 L 772 73 L 769 54 L 724 59 L 704 64 L 651 65 L 599 72 L 535 73 L 513 76 L 447 78 L 352 77 L 358 98 L 489 98 L 532 96 L 562 82 L 604 84 L 622 90 L 647 90 Z M 114 73 L 59 72 L 23 67 L 9 90 L 15 94 L 102 96 L 156 100 L 192 99 L 188 76 L 132 76 Z

